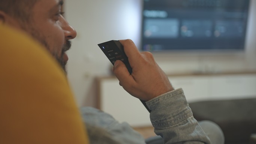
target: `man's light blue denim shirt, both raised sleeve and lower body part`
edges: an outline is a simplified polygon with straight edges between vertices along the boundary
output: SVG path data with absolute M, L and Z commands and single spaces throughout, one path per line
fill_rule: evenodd
M 146 102 L 155 133 L 164 144 L 210 144 L 182 89 L 176 89 Z M 91 144 L 145 144 L 144 138 L 128 123 L 118 123 L 112 116 L 91 107 L 81 108 Z

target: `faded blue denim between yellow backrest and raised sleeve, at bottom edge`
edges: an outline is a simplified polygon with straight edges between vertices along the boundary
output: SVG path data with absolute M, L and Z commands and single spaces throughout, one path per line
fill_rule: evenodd
M 119 123 L 110 114 L 92 107 L 80 109 L 90 144 L 145 144 L 138 132 L 126 123 Z

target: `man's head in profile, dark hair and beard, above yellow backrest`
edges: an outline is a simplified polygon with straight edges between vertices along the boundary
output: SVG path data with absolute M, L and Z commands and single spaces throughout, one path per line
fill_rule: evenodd
M 65 70 L 68 60 L 65 51 L 70 48 L 69 40 L 76 37 L 76 31 L 61 15 L 63 1 L 1 0 L 0 4 L 1 23 L 29 33 L 51 52 Z

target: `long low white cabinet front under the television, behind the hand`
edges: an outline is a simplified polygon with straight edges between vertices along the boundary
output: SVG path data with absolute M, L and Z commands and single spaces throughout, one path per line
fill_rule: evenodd
M 183 88 L 188 102 L 256 97 L 256 73 L 183 74 L 168 76 L 174 88 Z M 98 80 L 98 108 L 131 126 L 151 125 L 149 112 L 129 95 L 115 77 Z

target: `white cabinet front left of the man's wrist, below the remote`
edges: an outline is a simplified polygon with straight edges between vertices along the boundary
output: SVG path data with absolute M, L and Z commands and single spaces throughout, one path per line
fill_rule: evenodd
M 131 96 L 118 79 L 104 79 L 100 83 L 100 109 L 112 115 L 119 122 L 131 126 L 149 126 L 149 112 L 138 98 Z

